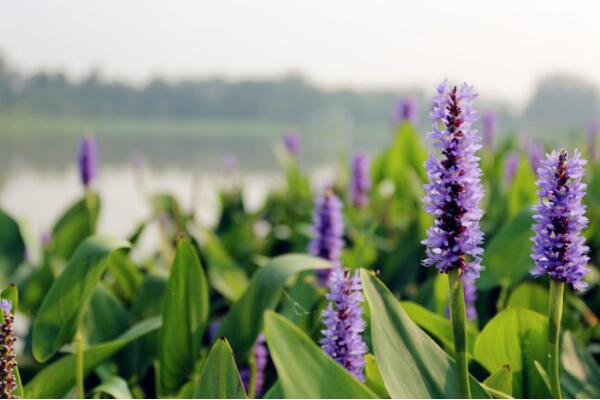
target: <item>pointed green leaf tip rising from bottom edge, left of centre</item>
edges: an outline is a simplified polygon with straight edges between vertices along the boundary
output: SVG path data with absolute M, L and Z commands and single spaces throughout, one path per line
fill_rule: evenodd
M 200 373 L 195 399 L 245 399 L 233 352 L 227 340 L 217 339 Z

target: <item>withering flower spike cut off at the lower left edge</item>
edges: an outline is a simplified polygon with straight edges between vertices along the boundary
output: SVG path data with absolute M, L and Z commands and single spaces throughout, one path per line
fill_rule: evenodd
M 17 339 L 13 332 L 12 303 L 9 300 L 0 300 L 0 308 L 4 313 L 4 320 L 0 324 L 0 398 L 16 399 L 14 392 L 17 390 L 15 368 L 17 359 L 14 346 Z

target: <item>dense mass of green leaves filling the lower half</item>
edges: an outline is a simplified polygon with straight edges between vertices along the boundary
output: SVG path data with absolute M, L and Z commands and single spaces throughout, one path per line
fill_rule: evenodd
M 410 123 L 399 124 L 389 147 L 370 163 L 369 185 L 352 183 L 350 160 L 339 166 L 329 188 L 341 201 L 334 208 L 345 226 L 337 256 L 353 272 L 337 276 L 329 295 L 315 270 L 330 264 L 308 255 L 314 199 L 322 188 L 311 187 L 294 153 L 283 148 L 285 185 L 257 212 L 246 211 L 239 182 L 227 172 L 214 227 L 202 226 L 172 195 L 155 193 L 148 197 L 152 214 L 137 221 L 126 240 L 97 234 L 98 216 L 110 210 L 102 209 L 101 193 L 82 175 L 85 195 L 58 218 L 40 261 L 32 263 L 27 252 L 35 246 L 1 212 L 0 282 L 12 305 L 3 316 L 18 322 L 14 394 L 458 397 L 448 276 L 421 266 L 421 242 L 432 223 L 422 207 L 423 143 Z M 533 155 L 510 138 L 481 151 L 485 269 L 466 329 L 473 397 L 551 394 L 547 278 L 528 273 L 532 164 L 540 161 Z M 566 291 L 562 320 L 561 385 L 568 397 L 600 396 L 600 163 L 590 161 L 585 235 L 591 272 L 583 293 Z M 370 189 L 368 202 L 353 201 L 357 187 Z M 152 231 L 160 240 L 148 252 L 140 243 Z M 353 297 L 344 297 L 348 293 Z M 366 346 L 364 376 L 319 346 L 338 345 L 322 340 L 322 316 L 346 315 L 327 308 L 328 299 L 352 318 L 362 310 L 366 326 L 355 333 Z

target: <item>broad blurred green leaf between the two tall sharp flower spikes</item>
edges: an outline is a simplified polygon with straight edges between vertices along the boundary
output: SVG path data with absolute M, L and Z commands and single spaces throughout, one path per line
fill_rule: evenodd
M 523 210 L 506 222 L 494 235 L 484 253 L 485 274 L 477 287 L 492 289 L 500 284 L 511 285 L 527 274 L 531 261 L 531 226 L 533 212 Z

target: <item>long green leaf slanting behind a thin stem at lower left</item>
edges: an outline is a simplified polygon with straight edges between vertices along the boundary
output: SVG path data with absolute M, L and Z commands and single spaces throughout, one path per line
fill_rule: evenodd
M 84 375 L 89 375 L 127 344 L 157 330 L 160 325 L 160 317 L 150 318 L 134 325 L 115 340 L 88 347 L 84 352 Z M 48 365 L 25 386 L 27 398 L 64 397 L 75 385 L 75 364 L 75 355 L 70 354 Z

